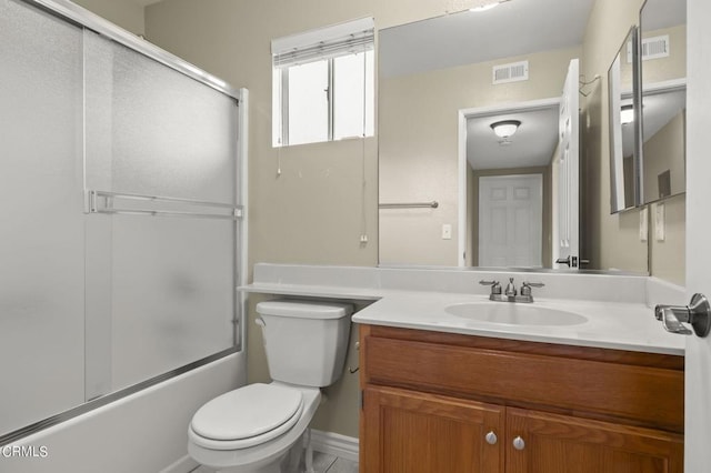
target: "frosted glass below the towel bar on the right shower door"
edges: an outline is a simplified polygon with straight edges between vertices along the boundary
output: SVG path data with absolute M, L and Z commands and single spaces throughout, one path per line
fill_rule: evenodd
M 233 222 L 97 217 L 111 228 L 112 390 L 232 346 Z

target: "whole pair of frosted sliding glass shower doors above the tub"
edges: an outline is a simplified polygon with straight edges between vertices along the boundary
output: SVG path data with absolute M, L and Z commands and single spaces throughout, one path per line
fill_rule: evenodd
M 0 444 L 238 350 L 236 92 L 34 4 L 0 0 Z

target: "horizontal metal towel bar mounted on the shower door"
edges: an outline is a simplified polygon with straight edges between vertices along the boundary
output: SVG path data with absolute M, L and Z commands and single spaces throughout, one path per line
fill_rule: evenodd
M 191 212 L 191 211 L 177 211 L 177 210 L 152 210 L 152 209 L 133 209 L 133 208 L 117 208 L 113 205 L 114 199 L 137 200 L 147 202 L 163 202 L 163 203 L 183 203 L 188 205 L 201 205 L 220 209 L 229 209 L 229 214 L 209 213 L 209 212 Z M 190 217 L 197 219 L 224 219 L 237 220 L 242 218 L 242 205 L 232 205 L 222 202 L 209 202 L 202 200 L 190 200 L 180 198 L 167 198 L 158 195 L 141 195 L 120 192 L 108 191 L 87 191 L 87 213 L 111 213 L 111 214 L 124 214 L 124 215 L 164 215 L 164 217 Z

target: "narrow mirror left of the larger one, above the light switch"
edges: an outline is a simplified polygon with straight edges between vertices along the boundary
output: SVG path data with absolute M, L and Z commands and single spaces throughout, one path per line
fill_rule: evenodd
M 638 64 L 638 28 L 633 27 L 608 70 L 611 213 L 641 202 Z

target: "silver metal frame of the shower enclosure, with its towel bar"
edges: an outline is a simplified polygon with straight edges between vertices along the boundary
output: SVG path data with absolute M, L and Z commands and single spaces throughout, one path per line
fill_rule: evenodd
M 70 419 L 77 417 L 81 414 L 88 413 L 98 407 L 104 406 L 112 402 L 116 402 L 122 397 L 129 396 L 131 394 L 136 394 L 147 388 L 159 384 L 163 381 L 176 378 L 180 374 L 187 373 L 197 368 L 209 364 L 213 361 L 222 359 L 233 353 L 238 353 L 244 350 L 247 343 L 247 331 L 243 329 L 244 326 L 244 316 L 247 314 L 247 304 L 248 304 L 248 294 L 244 292 L 240 292 L 237 290 L 240 285 L 246 284 L 247 274 L 248 274 L 248 219 L 247 219 L 247 209 L 248 209 L 248 137 L 249 137 L 249 127 L 248 127 L 248 117 L 249 117 L 249 91 L 244 88 L 236 89 L 230 84 L 224 82 L 223 80 L 199 69 L 198 67 L 191 64 L 183 59 L 180 59 L 153 44 L 143 40 L 140 37 L 137 37 L 116 24 L 104 20 L 103 18 L 91 13 L 90 11 L 72 3 L 67 0 L 19 0 L 20 2 L 33 6 L 48 12 L 57 18 L 60 18 L 69 23 L 72 23 L 79 28 L 87 29 L 93 31 L 109 40 L 112 40 L 119 44 L 122 44 L 149 59 L 152 59 L 174 71 L 180 72 L 183 76 L 187 76 L 204 85 L 208 85 L 218 92 L 221 92 L 237 102 L 237 123 L 238 129 L 236 130 L 237 135 L 237 155 L 236 159 L 236 205 L 227 205 L 227 204 L 216 204 L 213 202 L 201 202 L 188 199 L 174 199 L 174 198 L 160 198 L 153 195 L 137 195 L 137 194 L 126 194 L 126 193 L 112 193 L 112 192 L 103 192 L 97 190 L 89 190 L 86 185 L 84 180 L 84 213 L 132 213 L 132 214 L 169 214 L 169 217 L 188 217 L 188 213 L 182 212 L 170 212 L 170 211 L 137 211 L 129 209 L 123 212 L 116 209 L 107 208 L 106 205 L 102 208 L 98 204 L 98 202 L 103 199 L 104 203 L 110 202 L 113 198 L 122 198 L 130 200 L 144 200 L 144 201 L 172 201 L 172 202 L 184 202 L 191 205 L 202 205 L 209 204 L 211 207 L 222 207 L 230 211 L 229 214 L 211 214 L 211 213 L 196 213 L 190 212 L 189 217 L 192 218 L 218 218 L 218 219 L 230 219 L 234 221 L 234 259 L 232 262 L 233 265 L 233 311 L 232 314 L 232 324 L 233 324 L 233 344 L 231 348 L 227 350 L 222 350 L 220 352 L 213 353 L 207 358 L 201 360 L 193 361 L 186 365 L 179 366 L 174 370 L 168 371 L 160 375 L 150 378 L 148 380 L 141 381 L 137 384 L 130 385 L 128 388 L 119 389 L 118 391 L 110 392 L 108 394 L 91 399 L 84 400 L 82 404 L 77 405 L 76 407 L 69 409 L 64 412 L 58 413 L 56 415 L 43 419 L 39 422 L 31 423 L 21 429 L 11 431 L 9 433 L 0 435 L 0 446 L 11 444 L 17 442 L 18 440 L 26 437 L 30 434 L 37 433 L 47 427 L 57 425 Z M 86 159 L 86 157 L 84 157 Z M 86 361 L 84 361 L 86 362 Z

